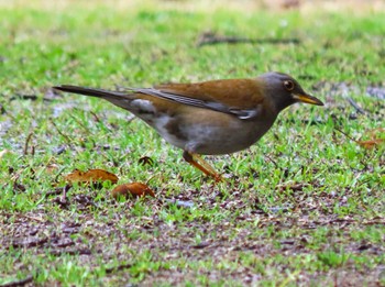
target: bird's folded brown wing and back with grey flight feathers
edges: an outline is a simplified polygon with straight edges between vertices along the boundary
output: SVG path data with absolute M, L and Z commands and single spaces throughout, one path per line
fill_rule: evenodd
M 198 84 L 166 84 L 129 90 L 246 120 L 260 113 L 263 104 L 261 88 L 261 82 L 255 79 L 228 79 Z

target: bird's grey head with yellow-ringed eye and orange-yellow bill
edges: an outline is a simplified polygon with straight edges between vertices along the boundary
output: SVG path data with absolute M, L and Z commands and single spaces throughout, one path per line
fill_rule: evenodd
M 265 84 L 266 95 L 273 99 L 278 112 L 295 102 L 323 106 L 323 102 L 304 91 L 298 81 L 287 74 L 272 71 L 258 78 Z

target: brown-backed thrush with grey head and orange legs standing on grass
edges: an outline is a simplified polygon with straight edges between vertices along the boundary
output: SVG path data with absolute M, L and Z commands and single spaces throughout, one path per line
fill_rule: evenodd
M 253 78 L 161 84 L 119 91 L 73 85 L 55 90 L 105 99 L 143 120 L 183 158 L 216 181 L 222 176 L 201 155 L 231 154 L 256 143 L 278 113 L 296 103 L 323 106 L 292 76 L 270 71 Z

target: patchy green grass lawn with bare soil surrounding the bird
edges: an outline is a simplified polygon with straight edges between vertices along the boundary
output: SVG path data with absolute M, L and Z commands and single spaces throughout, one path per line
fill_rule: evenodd
M 65 3 L 0 5 L 0 284 L 385 284 L 384 145 L 336 130 L 370 140 L 384 128 L 384 100 L 366 95 L 385 84 L 382 11 Z M 300 42 L 197 47 L 207 31 Z M 51 91 L 266 70 L 327 106 L 292 107 L 250 150 L 208 157 L 228 177 L 218 185 L 129 112 Z M 156 198 L 78 185 L 63 205 L 53 191 L 75 168 L 147 183 Z

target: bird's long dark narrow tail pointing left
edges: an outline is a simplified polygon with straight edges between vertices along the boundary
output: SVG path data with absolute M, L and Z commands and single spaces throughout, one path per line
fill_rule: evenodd
M 109 91 L 103 89 L 94 89 L 87 87 L 72 86 L 72 85 L 62 85 L 53 87 L 55 90 L 79 93 L 84 96 L 103 98 L 107 100 L 122 100 L 122 98 L 129 98 L 130 92 L 121 92 L 121 91 Z

